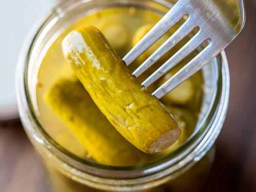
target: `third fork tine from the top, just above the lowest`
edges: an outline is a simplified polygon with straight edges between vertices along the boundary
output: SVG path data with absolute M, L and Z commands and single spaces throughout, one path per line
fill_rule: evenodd
M 198 48 L 206 38 L 202 37 L 203 33 L 201 29 L 199 32 L 191 38 L 187 44 L 185 44 L 177 53 L 175 53 L 172 57 L 169 58 L 160 68 L 158 68 L 150 77 L 148 77 L 144 82 L 142 82 L 142 86 L 148 87 L 165 73 L 167 73 L 170 69 L 176 66 L 183 58 L 185 58 L 188 54 L 193 52 L 196 48 Z

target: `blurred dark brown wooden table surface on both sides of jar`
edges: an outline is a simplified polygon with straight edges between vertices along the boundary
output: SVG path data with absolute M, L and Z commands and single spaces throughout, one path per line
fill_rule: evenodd
M 256 191 L 256 1 L 246 9 L 244 30 L 226 48 L 229 108 L 202 191 Z M 19 120 L 0 122 L 0 191 L 49 191 Z

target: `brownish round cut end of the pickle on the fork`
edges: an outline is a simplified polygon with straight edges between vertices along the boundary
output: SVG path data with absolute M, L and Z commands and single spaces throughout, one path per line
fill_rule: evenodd
M 173 129 L 168 131 L 159 137 L 150 148 L 148 148 L 148 152 L 150 154 L 154 154 L 157 152 L 162 152 L 166 150 L 170 145 L 174 144 L 181 135 L 181 129 Z

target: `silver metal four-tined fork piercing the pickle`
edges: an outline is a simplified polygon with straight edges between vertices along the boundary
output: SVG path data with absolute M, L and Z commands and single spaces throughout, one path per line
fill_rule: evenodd
M 225 2 L 223 5 L 223 1 Z M 236 9 L 236 5 L 237 9 Z M 231 25 L 228 18 L 236 18 L 237 23 Z M 160 99 L 191 75 L 199 71 L 207 62 L 217 56 L 242 30 L 245 23 L 244 0 L 179 0 L 161 20 L 123 57 L 129 66 L 143 52 L 150 48 L 161 36 L 172 28 L 184 15 L 188 15 L 185 23 L 164 42 L 150 57 L 148 57 L 134 72 L 138 77 L 150 68 L 165 53 L 171 50 L 179 41 L 194 28 L 199 31 L 178 52 L 170 57 L 159 69 L 148 77 L 142 86 L 148 87 L 166 72 L 172 69 L 183 58 L 196 50 L 205 40 L 209 44 L 191 59 L 180 71 L 168 79 L 152 93 Z

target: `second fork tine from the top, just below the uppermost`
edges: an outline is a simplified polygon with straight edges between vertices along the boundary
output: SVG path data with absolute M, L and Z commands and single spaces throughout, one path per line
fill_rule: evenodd
M 148 68 L 150 68 L 156 61 L 158 61 L 162 56 L 164 56 L 168 51 L 170 51 L 174 46 L 178 44 L 188 33 L 190 33 L 195 26 L 193 22 L 190 21 L 189 17 L 186 22 L 164 42 L 150 57 L 148 57 L 134 72 L 135 77 L 140 76 Z

